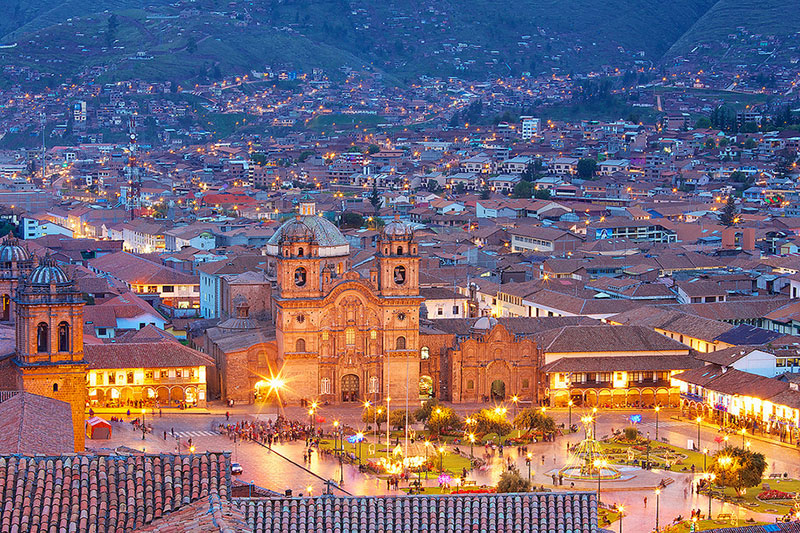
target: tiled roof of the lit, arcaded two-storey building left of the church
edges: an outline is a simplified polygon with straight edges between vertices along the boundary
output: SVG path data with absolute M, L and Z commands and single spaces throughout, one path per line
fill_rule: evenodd
M 83 347 L 89 368 L 170 368 L 213 366 L 207 355 L 170 340 L 86 344 Z

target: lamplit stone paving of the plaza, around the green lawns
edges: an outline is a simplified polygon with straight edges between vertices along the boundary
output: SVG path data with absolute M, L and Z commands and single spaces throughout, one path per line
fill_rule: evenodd
M 473 413 L 486 405 L 456 405 L 454 408 L 462 415 Z M 202 451 L 221 451 L 229 450 L 232 453 L 233 461 L 240 463 L 244 468 L 244 473 L 239 475 L 240 481 L 254 483 L 255 485 L 268 489 L 283 491 L 292 489 L 295 494 L 307 494 L 309 487 L 314 494 L 324 492 L 325 484 L 320 479 L 331 479 L 339 482 L 343 479 L 342 488 L 351 494 L 390 494 L 394 491 L 389 490 L 385 480 L 374 475 L 362 474 L 356 466 L 344 464 L 340 469 L 339 462 L 332 456 L 324 454 L 314 454 L 310 464 L 303 460 L 305 451 L 303 441 L 274 444 L 273 451 L 253 442 L 234 443 L 225 435 L 217 432 L 219 424 L 225 423 L 225 413 L 227 408 L 212 405 L 202 411 L 164 411 L 161 416 L 158 412 L 146 415 L 146 423 L 153 427 L 153 433 L 148 434 L 142 440 L 141 432 L 132 429 L 129 423 L 115 423 L 114 435 L 110 441 L 87 441 L 87 447 L 95 448 L 115 448 L 118 446 L 128 446 L 147 452 L 175 452 L 179 450 L 188 452 L 188 441 L 191 438 L 192 444 L 197 452 Z M 283 411 L 284 415 L 294 420 L 307 420 L 308 415 L 305 409 L 300 407 L 287 407 Z M 269 406 L 245 406 L 230 409 L 230 422 L 241 420 L 253 420 L 255 417 L 275 416 L 276 408 Z M 323 407 L 319 416 L 324 419 L 321 426 L 326 431 L 332 429 L 334 420 L 341 424 L 350 426 L 357 430 L 364 430 L 365 424 L 361 422 L 362 410 L 359 406 L 330 406 Z M 628 423 L 631 414 L 641 413 L 642 423 L 639 429 L 643 434 L 650 432 L 651 437 L 655 435 L 655 413 L 652 411 L 638 410 L 601 410 L 597 418 L 597 434 L 603 436 L 610 434 L 612 429 L 623 428 Z M 513 414 L 513 413 L 510 413 Z M 549 409 L 548 414 L 552 415 L 558 424 L 568 423 L 568 411 L 566 409 Z M 584 414 L 578 409 L 572 412 L 572 422 L 577 423 L 580 416 Z M 659 418 L 659 437 L 668 440 L 671 444 L 686 447 L 689 439 L 697 440 L 697 425 L 687 421 L 679 421 L 677 411 L 662 410 Z M 103 415 L 108 418 L 110 414 Z M 124 416 L 124 415 L 123 415 Z M 385 426 L 384 426 L 385 430 Z M 167 432 L 165 440 L 164 432 Z M 177 439 L 172 437 L 175 432 Z M 367 434 L 368 441 L 372 440 L 372 435 Z M 703 426 L 700 431 L 700 446 L 716 450 L 718 444 L 714 442 L 718 436 L 717 429 L 711 426 Z M 384 433 L 385 438 L 385 433 Z M 534 460 L 531 465 L 532 481 L 536 486 L 544 485 L 545 488 L 553 488 L 551 474 L 563 466 L 568 457 L 567 443 L 570 445 L 579 442 L 583 438 L 583 431 L 571 435 L 557 437 L 554 442 L 543 442 L 529 445 L 529 451 L 533 454 Z M 738 437 L 737 437 L 738 438 Z M 401 440 L 402 442 L 402 440 Z M 752 448 L 762 452 L 767 458 L 767 472 L 788 474 L 790 478 L 800 479 L 800 452 L 792 447 L 772 443 L 768 441 L 752 439 Z M 368 446 L 369 443 L 365 444 Z M 452 446 L 448 447 L 448 452 L 452 453 Z M 469 445 L 460 445 L 461 451 L 469 453 Z M 412 450 L 415 453 L 424 455 L 424 448 L 417 441 Z M 475 447 L 475 454 L 482 455 L 484 448 Z M 411 453 L 410 453 L 411 455 Z M 468 478 L 474 480 L 477 485 L 495 485 L 500 474 L 506 467 L 509 457 L 513 464 L 517 466 L 523 476 L 527 476 L 528 467 L 525 457 L 514 447 L 506 447 L 503 457 L 496 451 L 491 455 L 489 464 L 485 469 L 474 470 L 469 473 Z M 307 468 L 315 475 L 304 470 Z M 624 531 L 646 532 L 655 527 L 656 521 L 656 495 L 654 488 L 662 482 L 669 483 L 661 491 L 658 497 L 659 525 L 670 524 L 677 516 L 687 517 L 691 509 L 701 509 L 703 514 L 708 510 L 708 498 L 693 494 L 690 490 L 691 481 L 694 479 L 690 471 L 644 471 L 639 468 L 626 468 L 623 480 L 601 481 L 601 500 L 607 504 L 621 504 L 625 506 Z M 700 475 L 700 470 L 697 471 Z M 426 486 L 438 486 L 435 476 L 422 481 Z M 774 484 L 772 488 L 780 488 L 779 484 Z M 400 485 L 403 488 L 405 484 Z M 574 482 L 574 487 L 568 480 L 564 481 L 561 487 L 555 490 L 597 490 L 597 482 L 590 480 L 585 482 Z M 400 492 L 397 492 L 398 494 Z M 645 504 L 645 498 L 647 502 Z M 720 513 L 730 513 L 733 517 L 740 520 L 753 519 L 764 522 L 772 522 L 775 515 L 754 513 L 731 504 L 722 504 L 719 500 L 712 501 L 712 515 Z M 610 529 L 618 531 L 619 522 L 614 523 Z

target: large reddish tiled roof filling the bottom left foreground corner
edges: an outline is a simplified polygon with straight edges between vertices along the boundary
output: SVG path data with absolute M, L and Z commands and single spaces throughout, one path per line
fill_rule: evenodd
M 212 495 L 227 500 L 229 471 L 221 453 L 0 456 L 0 531 L 133 531 Z

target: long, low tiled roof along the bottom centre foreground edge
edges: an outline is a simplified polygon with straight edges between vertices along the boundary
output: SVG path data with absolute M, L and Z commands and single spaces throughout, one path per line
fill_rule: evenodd
M 468 494 L 236 500 L 256 533 L 597 531 L 594 493 Z

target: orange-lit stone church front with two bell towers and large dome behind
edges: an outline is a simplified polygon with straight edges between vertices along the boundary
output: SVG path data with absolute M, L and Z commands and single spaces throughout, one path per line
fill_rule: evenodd
M 422 298 L 407 224 L 384 227 L 368 277 L 349 268 L 347 241 L 313 203 L 301 204 L 266 253 L 277 287 L 272 316 L 283 400 L 417 399 Z

